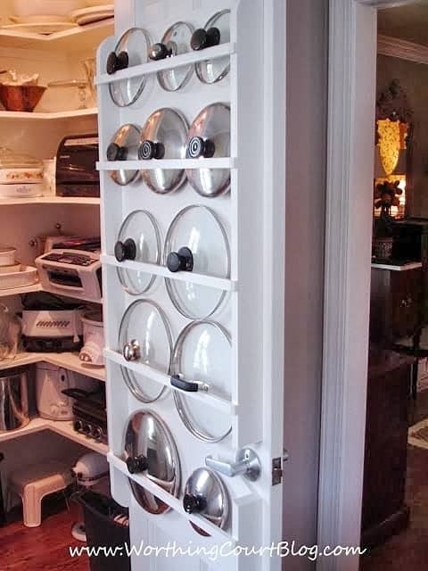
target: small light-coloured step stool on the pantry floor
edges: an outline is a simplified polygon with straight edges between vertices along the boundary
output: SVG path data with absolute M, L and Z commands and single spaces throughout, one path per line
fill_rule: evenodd
M 16 470 L 9 475 L 7 492 L 21 496 L 24 525 L 37 527 L 42 519 L 42 500 L 73 482 L 70 467 L 56 460 Z

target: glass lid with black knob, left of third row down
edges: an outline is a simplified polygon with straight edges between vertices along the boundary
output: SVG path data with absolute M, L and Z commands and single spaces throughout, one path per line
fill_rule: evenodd
M 161 262 L 161 238 L 155 219 L 148 211 L 134 211 L 123 221 L 114 245 L 117 261 L 134 260 L 149 264 Z M 144 294 L 155 277 L 141 269 L 118 268 L 120 284 L 128 294 Z

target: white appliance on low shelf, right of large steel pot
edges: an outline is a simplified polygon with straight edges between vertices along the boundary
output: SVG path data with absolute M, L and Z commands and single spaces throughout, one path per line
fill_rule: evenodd
M 36 401 L 38 414 L 42 418 L 72 420 L 73 399 L 62 393 L 69 388 L 91 391 L 94 380 L 50 363 L 37 363 Z

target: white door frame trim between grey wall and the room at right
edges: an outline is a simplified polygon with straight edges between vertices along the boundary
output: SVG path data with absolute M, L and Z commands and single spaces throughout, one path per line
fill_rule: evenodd
M 358 546 L 374 177 L 377 8 L 412 0 L 330 0 L 325 319 L 317 542 Z M 357 571 L 358 556 L 320 558 Z

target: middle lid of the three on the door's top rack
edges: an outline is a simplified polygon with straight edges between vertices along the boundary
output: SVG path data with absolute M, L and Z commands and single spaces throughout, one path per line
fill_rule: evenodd
M 174 55 L 186 54 L 190 51 L 190 40 L 193 26 L 185 21 L 177 21 L 167 29 L 161 42 L 153 44 L 149 49 L 149 58 L 155 62 Z M 177 91 L 184 87 L 192 76 L 193 65 L 182 65 L 173 70 L 158 71 L 159 84 L 165 91 Z

